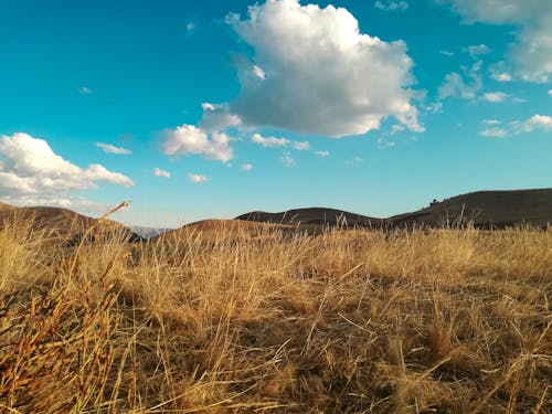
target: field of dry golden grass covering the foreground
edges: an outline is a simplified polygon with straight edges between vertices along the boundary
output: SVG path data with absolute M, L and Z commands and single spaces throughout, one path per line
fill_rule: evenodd
M 550 231 L 4 223 L 0 411 L 550 413 L 551 299 Z

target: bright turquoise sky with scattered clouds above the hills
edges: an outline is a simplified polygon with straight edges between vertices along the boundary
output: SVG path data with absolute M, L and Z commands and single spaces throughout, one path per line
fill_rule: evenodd
M 550 0 L 0 0 L 2 202 L 174 227 L 550 187 Z

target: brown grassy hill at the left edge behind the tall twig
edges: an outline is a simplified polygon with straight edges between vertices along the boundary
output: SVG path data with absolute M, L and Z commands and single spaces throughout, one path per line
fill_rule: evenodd
M 0 203 L 0 229 L 13 221 L 25 223 L 33 231 L 44 231 L 47 240 L 73 245 L 81 241 L 96 219 L 63 208 L 17 208 Z M 129 242 L 142 240 L 138 234 L 112 220 L 100 223 L 89 237 L 91 240 L 117 237 Z

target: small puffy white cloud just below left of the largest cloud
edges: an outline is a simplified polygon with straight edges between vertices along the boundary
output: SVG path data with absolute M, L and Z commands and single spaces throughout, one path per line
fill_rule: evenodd
M 187 124 L 166 131 L 163 152 L 168 156 L 201 155 L 206 159 L 222 162 L 227 162 L 234 157 L 226 134 L 212 132 L 210 139 L 201 128 Z

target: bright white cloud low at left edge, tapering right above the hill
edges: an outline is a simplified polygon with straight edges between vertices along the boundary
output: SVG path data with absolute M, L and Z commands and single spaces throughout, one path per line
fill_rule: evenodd
M 0 195 L 38 204 L 74 198 L 72 191 L 97 188 L 98 182 L 134 185 L 128 177 L 93 163 L 82 169 L 56 155 L 49 144 L 28 134 L 0 138 Z

